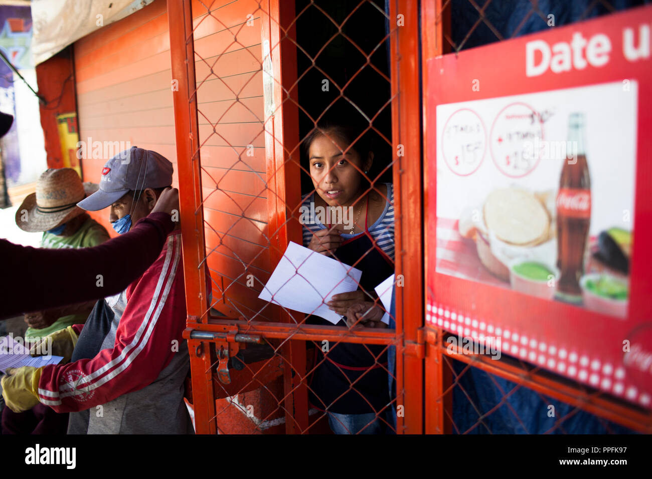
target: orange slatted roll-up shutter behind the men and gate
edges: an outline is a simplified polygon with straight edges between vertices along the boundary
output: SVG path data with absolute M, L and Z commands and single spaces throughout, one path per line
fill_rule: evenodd
M 215 308 L 252 315 L 265 306 L 256 297 L 269 278 L 258 4 L 217 1 L 210 15 L 200 4 L 193 7 L 199 25 L 195 50 L 207 264 L 213 297 L 220 299 Z M 241 29 L 233 44 L 229 30 L 247 20 L 253 25 Z M 168 30 L 166 2 L 154 2 L 78 40 L 74 64 L 80 141 L 119 141 L 155 150 L 175 164 L 177 186 Z M 253 156 L 244 152 L 248 145 Z M 99 182 L 109 158 L 93 155 L 92 147 L 82 159 L 83 179 Z M 91 212 L 115 236 L 108 215 L 108 209 Z M 247 285 L 248 274 L 256 278 L 253 288 Z

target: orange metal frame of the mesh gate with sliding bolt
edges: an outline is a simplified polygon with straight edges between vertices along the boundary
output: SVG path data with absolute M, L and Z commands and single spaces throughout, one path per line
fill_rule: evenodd
M 301 231 L 289 222 L 293 201 L 300 201 L 299 169 L 288 162 L 288 155 L 299 145 L 298 113 L 295 98 L 297 65 L 293 2 L 261 0 L 263 37 L 269 40 L 274 79 L 273 97 L 278 108 L 265 117 L 265 152 L 269 195 L 269 234 L 271 263 L 282 257 L 289 240 L 301 242 Z M 244 321 L 241 318 L 210 317 L 205 312 L 204 224 L 201 197 L 200 138 L 190 0 L 168 0 L 172 78 L 178 81 L 173 93 L 177 164 L 181 207 L 183 267 L 186 287 L 187 328 L 192 390 L 197 433 L 216 433 L 216 407 L 213 394 L 213 345 L 236 351 L 242 340 L 279 338 L 282 354 L 299 374 L 284 368 L 284 410 L 286 432 L 302 433 L 308 427 L 308 400 L 300 384 L 305 364 L 303 341 L 329 340 L 396 346 L 397 405 L 404 414 L 398 416 L 399 433 L 423 430 L 422 389 L 424 341 L 424 274 L 422 251 L 422 155 L 419 93 L 419 2 L 393 0 L 390 18 L 404 18 L 404 26 L 392 29 L 391 95 L 393 146 L 406 156 L 394 160 L 394 210 L 396 238 L 396 274 L 403 274 L 404 287 L 396 289 L 396 330 L 362 330 L 351 332 L 339 327 L 295 325 L 288 313 L 279 313 L 276 322 Z M 398 22 L 397 22 L 398 25 Z M 266 98 L 267 100 L 267 98 Z M 396 153 L 395 153 L 396 154 Z M 303 373 L 305 370 L 303 369 Z

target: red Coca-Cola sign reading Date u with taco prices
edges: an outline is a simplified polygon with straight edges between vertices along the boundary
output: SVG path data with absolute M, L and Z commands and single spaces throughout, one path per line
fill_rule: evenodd
M 651 20 L 435 57 L 424 87 L 428 324 L 645 408 Z

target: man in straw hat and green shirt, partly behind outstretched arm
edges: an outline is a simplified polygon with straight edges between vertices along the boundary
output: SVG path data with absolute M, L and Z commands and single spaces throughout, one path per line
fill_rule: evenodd
M 42 248 L 90 248 L 109 239 L 104 226 L 77 206 L 98 185 L 83 183 L 72 168 L 47 169 L 35 193 L 16 210 L 16 225 L 29 233 L 43 232 Z M 25 314 L 25 338 L 38 339 L 74 324 L 85 323 L 95 300 Z M 29 305 L 25 305 L 29 306 Z

